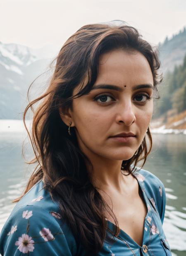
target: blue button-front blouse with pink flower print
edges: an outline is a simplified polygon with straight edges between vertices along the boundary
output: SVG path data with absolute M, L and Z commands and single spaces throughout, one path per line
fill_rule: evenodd
M 162 229 L 166 194 L 163 183 L 146 170 L 134 174 L 148 209 L 143 230 L 143 246 L 139 246 L 124 230 L 115 242 L 104 242 L 98 256 L 171 256 Z M 112 230 L 114 224 L 107 220 Z M 109 231 L 107 231 L 109 232 Z M 60 215 L 60 208 L 39 181 L 16 204 L 0 234 L 2 256 L 85 256 Z

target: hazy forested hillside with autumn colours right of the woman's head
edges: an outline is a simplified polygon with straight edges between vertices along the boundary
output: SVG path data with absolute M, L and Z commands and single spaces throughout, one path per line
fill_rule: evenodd
M 186 129 L 186 28 L 158 45 L 163 81 L 158 86 L 152 128 Z

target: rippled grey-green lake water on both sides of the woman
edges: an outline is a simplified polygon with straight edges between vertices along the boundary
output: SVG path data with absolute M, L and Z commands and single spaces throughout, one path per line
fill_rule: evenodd
M 0 132 L 0 230 L 28 179 L 31 168 L 21 155 L 26 135 Z M 28 140 L 27 140 L 28 141 Z M 31 160 L 25 142 L 26 160 Z M 143 169 L 165 185 L 167 205 L 163 228 L 173 256 L 186 255 L 186 135 L 153 134 L 153 149 Z M 33 167 L 32 167 L 33 168 Z

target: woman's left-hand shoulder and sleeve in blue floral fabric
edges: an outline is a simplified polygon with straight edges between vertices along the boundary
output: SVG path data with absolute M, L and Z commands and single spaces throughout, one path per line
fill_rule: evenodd
M 14 207 L 0 234 L 0 254 L 73 255 L 76 242 L 59 207 L 38 182 Z

